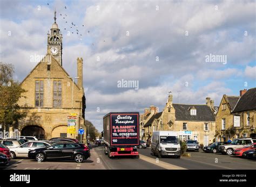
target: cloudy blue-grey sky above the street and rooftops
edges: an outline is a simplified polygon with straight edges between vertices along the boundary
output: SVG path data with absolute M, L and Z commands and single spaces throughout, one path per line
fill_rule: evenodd
M 14 64 L 16 80 L 36 66 L 31 55 L 46 53 L 55 8 L 63 67 L 76 76 L 83 57 L 85 116 L 100 131 L 108 112 L 163 110 L 169 91 L 174 103 L 211 97 L 218 106 L 223 94 L 256 87 L 256 3 L 230 0 L 0 0 L 0 61 Z M 69 35 L 71 21 L 82 36 Z M 119 88 L 120 80 L 139 88 Z

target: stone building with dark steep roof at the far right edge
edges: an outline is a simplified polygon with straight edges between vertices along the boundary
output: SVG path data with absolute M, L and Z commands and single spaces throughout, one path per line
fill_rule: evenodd
M 240 96 L 224 95 L 216 117 L 217 140 L 256 138 L 255 112 L 256 88 L 240 90 Z

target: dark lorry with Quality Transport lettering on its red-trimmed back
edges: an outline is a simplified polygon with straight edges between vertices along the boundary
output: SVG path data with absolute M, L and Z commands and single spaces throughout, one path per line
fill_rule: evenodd
M 110 112 L 103 117 L 104 152 L 109 157 L 138 157 L 139 112 Z

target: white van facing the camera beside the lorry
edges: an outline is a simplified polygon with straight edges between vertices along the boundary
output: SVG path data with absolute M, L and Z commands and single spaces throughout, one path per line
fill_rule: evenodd
M 180 158 L 178 132 L 154 131 L 151 141 L 151 152 L 158 156 L 175 156 Z

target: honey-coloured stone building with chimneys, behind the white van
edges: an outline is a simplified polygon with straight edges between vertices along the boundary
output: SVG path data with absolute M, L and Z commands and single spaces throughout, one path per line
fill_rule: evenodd
M 214 112 L 214 102 L 208 97 L 205 105 L 192 105 L 173 104 L 172 95 L 169 95 L 162 112 L 156 112 L 151 107 L 150 112 L 145 110 L 141 115 L 143 139 L 151 138 L 153 131 L 177 131 L 180 140 L 198 140 L 208 145 L 215 136 Z

